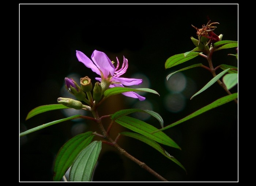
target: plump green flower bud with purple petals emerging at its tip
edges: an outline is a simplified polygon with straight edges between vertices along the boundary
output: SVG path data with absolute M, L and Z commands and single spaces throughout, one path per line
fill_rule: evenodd
M 76 96 L 76 99 L 83 101 L 86 99 L 86 94 L 82 91 L 81 87 L 76 84 L 73 79 L 65 78 L 65 87 L 71 94 Z

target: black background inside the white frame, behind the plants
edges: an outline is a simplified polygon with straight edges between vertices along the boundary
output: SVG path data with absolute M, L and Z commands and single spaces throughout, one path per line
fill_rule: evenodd
M 19 8 L 20 132 L 66 117 L 57 110 L 25 121 L 33 108 L 57 103 L 68 74 L 89 76 L 95 83 L 97 75 L 77 60 L 76 50 L 89 58 L 94 50 L 99 50 L 105 52 L 110 60 L 116 60 L 117 56 L 121 62 L 124 55 L 129 61 L 129 68 L 123 77 L 138 72 L 148 77 L 150 88 L 156 90 L 160 97 L 146 94 L 146 100 L 153 103 L 154 111 L 162 116 L 165 126 L 227 95 L 215 83 L 192 100 L 188 99 L 183 111 L 169 112 L 163 106 L 163 98 L 168 92 L 165 78 L 171 69 L 165 70 L 164 64 L 170 56 L 195 48 L 190 37 L 196 38 L 196 30 L 191 24 L 201 28 L 207 24 L 207 15 L 212 22 L 220 23 L 214 32 L 217 35 L 222 33 L 222 40 L 238 40 L 237 4 L 20 4 Z M 235 48 L 214 53 L 214 67 L 220 64 L 237 66 L 236 58 L 227 56 L 235 53 Z M 196 63 L 207 65 L 206 59 L 198 56 L 172 70 Z M 184 71 L 184 74 L 196 82 L 197 91 L 212 78 L 204 68 L 193 68 Z M 237 92 L 237 86 L 231 92 Z M 131 108 L 132 105 L 124 98 L 117 95 L 107 99 L 99 110 L 100 115 Z M 182 150 L 162 147 L 181 162 L 187 174 L 138 140 L 122 136 L 119 144 L 169 181 L 238 181 L 237 118 L 237 104 L 229 102 L 164 131 Z M 85 122 L 86 131 L 98 131 L 94 123 Z M 159 128 L 152 118 L 146 122 Z M 52 181 L 54 158 L 60 147 L 72 138 L 73 125 L 74 121 L 67 121 L 20 138 L 20 181 Z M 113 130 L 113 139 L 118 132 L 129 131 L 118 124 Z M 94 140 L 100 138 L 95 137 Z M 158 181 L 106 144 L 102 145 L 93 180 Z

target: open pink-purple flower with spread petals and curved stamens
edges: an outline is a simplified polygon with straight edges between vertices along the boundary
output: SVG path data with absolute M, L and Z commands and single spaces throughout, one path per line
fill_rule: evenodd
M 113 63 L 110 61 L 108 56 L 100 51 L 94 50 L 93 54 L 91 55 L 90 60 L 83 52 L 76 51 L 76 57 L 78 58 L 79 62 L 82 62 L 86 67 L 91 68 L 93 72 L 100 75 L 101 78 L 95 78 L 100 82 L 108 82 L 109 87 L 124 87 L 125 86 L 132 86 L 132 85 L 139 85 L 142 83 L 142 79 L 132 79 L 132 78 L 120 78 L 128 68 L 128 60 L 125 59 L 123 61 L 122 67 L 119 68 L 119 61 L 117 59 L 117 67 L 115 68 Z M 138 98 L 140 101 L 145 100 L 143 96 L 136 94 L 135 92 L 124 92 L 122 93 L 125 96 Z

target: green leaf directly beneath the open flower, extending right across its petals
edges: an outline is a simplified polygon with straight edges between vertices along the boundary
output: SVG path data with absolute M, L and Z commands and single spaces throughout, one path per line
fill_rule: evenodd
M 157 91 L 154 91 L 150 88 L 127 88 L 127 87 L 113 87 L 113 88 L 109 88 L 108 90 L 106 90 L 104 92 L 104 97 L 105 98 L 108 98 L 109 96 L 113 96 L 113 95 L 116 95 L 116 94 L 121 94 L 123 92 L 138 92 L 138 91 L 141 91 L 141 92 L 150 92 L 150 93 L 153 93 L 153 94 L 157 94 Z M 159 95 L 160 96 L 160 95 Z

